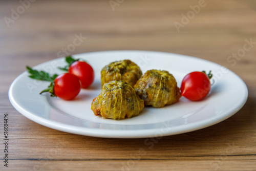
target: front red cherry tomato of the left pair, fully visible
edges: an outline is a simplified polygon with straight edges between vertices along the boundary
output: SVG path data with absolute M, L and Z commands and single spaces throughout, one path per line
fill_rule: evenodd
M 54 94 L 63 100 L 75 98 L 80 90 L 81 81 L 74 74 L 60 74 L 54 80 Z

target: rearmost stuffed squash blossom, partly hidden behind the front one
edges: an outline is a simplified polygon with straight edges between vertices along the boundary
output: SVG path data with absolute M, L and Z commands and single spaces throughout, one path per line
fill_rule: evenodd
M 133 87 L 141 75 L 140 68 L 131 60 L 115 61 L 101 70 L 101 87 L 111 81 L 125 81 Z

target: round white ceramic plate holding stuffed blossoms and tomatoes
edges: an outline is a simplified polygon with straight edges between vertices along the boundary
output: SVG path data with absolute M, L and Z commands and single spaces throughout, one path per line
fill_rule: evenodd
M 146 138 L 168 136 L 203 129 L 237 113 L 245 104 L 248 90 L 244 81 L 224 67 L 203 59 L 150 51 L 106 51 L 74 55 L 88 61 L 95 70 L 91 88 L 82 90 L 72 101 L 39 95 L 48 82 L 36 81 L 24 72 L 12 83 L 9 98 L 14 108 L 41 125 L 72 134 L 105 138 Z M 91 111 L 91 102 L 101 92 L 100 71 L 112 61 L 131 59 L 142 72 L 150 69 L 172 73 L 180 87 L 183 77 L 192 71 L 209 71 L 215 81 L 210 94 L 193 102 L 182 97 L 176 104 L 161 109 L 145 108 L 141 115 L 124 120 L 102 119 Z M 61 73 L 65 58 L 42 63 L 34 69 Z M 25 66 L 24 66 L 25 67 Z

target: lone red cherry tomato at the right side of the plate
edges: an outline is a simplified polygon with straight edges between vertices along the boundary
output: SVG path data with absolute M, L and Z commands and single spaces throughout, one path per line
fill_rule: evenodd
M 208 76 L 203 72 L 191 72 L 187 74 L 181 83 L 181 96 L 189 100 L 203 99 L 210 92 L 211 84 Z

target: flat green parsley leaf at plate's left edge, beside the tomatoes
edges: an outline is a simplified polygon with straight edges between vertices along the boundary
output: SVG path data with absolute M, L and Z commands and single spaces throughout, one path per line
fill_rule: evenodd
M 29 77 L 33 79 L 53 82 L 54 79 L 58 76 L 58 74 L 54 74 L 53 76 L 50 76 L 50 74 L 47 72 L 33 70 L 28 66 L 26 68 L 28 70 L 28 73 L 30 73 Z

